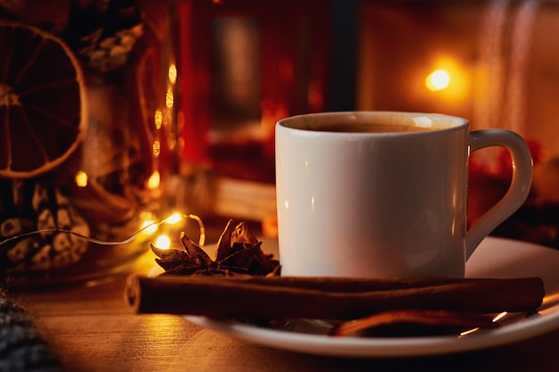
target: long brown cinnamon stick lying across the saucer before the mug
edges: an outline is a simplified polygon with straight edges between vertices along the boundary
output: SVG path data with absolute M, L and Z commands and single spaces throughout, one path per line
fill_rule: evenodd
M 133 275 L 125 299 L 138 313 L 349 319 L 395 309 L 530 311 L 538 308 L 545 294 L 539 277 L 367 280 L 370 286 L 361 279 Z M 365 289 L 341 290 L 352 282 Z M 309 283 L 321 288 L 309 287 Z

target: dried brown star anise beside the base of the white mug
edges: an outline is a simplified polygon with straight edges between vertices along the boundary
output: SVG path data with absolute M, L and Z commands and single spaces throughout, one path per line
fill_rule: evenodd
M 184 246 L 181 249 L 160 249 L 151 244 L 151 249 L 159 257 L 155 261 L 165 272 L 163 275 L 256 275 L 275 274 L 280 269 L 280 262 L 273 255 L 264 254 L 262 242 L 240 222 L 236 227 L 233 220 L 229 222 L 216 244 L 216 258 L 212 258 L 184 233 L 180 235 Z

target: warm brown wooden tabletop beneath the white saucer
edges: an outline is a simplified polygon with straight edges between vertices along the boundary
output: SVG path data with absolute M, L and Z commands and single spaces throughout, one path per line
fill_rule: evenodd
M 153 260 L 153 258 L 151 259 Z M 107 283 L 23 293 L 68 371 L 556 371 L 559 330 L 489 350 L 411 359 L 343 359 L 274 350 L 197 327 L 178 316 L 137 315 L 126 275 Z

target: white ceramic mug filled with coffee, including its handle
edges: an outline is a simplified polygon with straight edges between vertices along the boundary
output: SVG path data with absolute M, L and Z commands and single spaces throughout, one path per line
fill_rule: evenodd
M 511 153 L 513 179 L 468 230 L 468 157 L 491 145 Z M 468 120 L 453 116 L 325 112 L 280 120 L 281 275 L 463 277 L 478 244 L 525 201 L 531 173 L 521 136 L 470 132 Z

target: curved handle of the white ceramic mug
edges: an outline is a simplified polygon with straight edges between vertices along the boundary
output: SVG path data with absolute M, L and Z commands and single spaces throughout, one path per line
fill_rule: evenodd
M 483 129 L 470 133 L 470 153 L 488 146 L 503 146 L 513 159 L 513 178 L 501 198 L 466 233 L 466 260 L 489 233 L 509 218 L 530 193 L 532 158 L 526 142 L 518 134 L 505 129 Z

